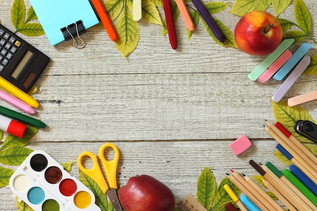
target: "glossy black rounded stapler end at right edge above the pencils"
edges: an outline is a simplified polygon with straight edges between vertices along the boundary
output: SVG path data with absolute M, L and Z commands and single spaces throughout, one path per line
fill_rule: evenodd
M 317 125 L 315 123 L 308 120 L 298 120 L 294 124 L 294 130 L 296 133 L 317 143 Z

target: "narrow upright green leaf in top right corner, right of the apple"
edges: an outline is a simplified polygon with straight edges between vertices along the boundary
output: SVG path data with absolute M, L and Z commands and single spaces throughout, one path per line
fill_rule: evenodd
M 300 29 L 309 34 L 311 27 L 310 14 L 302 0 L 295 0 L 295 18 Z

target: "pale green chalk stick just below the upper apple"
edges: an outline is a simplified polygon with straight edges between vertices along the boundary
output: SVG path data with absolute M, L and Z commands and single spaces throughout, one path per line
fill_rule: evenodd
M 294 39 L 284 39 L 273 53 L 269 54 L 249 75 L 250 80 L 256 80 L 273 62 L 278 59 L 294 43 Z

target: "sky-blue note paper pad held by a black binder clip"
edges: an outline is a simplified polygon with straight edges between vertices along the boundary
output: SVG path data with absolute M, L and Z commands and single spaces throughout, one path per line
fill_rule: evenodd
M 52 46 L 65 40 L 61 28 L 81 20 L 87 29 L 99 20 L 88 0 L 30 0 Z

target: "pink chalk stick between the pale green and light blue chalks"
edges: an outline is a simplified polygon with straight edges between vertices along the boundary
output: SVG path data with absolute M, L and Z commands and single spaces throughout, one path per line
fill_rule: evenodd
M 268 79 L 270 79 L 291 57 L 292 52 L 290 50 L 286 50 L 276 61 L 269 66 L 258 78 L 258 82 L 265 83 Z

